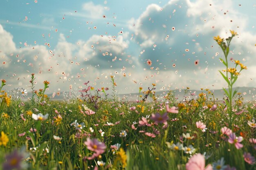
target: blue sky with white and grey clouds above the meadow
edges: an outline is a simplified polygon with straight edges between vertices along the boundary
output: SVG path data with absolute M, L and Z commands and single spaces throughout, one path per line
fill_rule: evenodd
M 38 88 L 46 79 L 51 82 L 49 93 L 69 91 L 70 85 L 84 88 L 88 80 L 96 88 L 110 87 L 110 75 L 120 94 L 152 83 L 157 91 L 219 89 L 226 84 L 218 73 L 224 67 L 213 36 L 227 38 L 230 29 L 239 35 L 229 58 L 248 67 L 236 86 L 256 84 L 256 2 L 251 0 L 0 3 L 0 78 L 7 88 L 28 89 L 35 73 Z

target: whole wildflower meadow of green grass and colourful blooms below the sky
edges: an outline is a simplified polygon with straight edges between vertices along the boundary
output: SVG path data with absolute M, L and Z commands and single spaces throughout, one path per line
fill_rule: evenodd
M 29 101 L 21 88 L 0 96 L 0 170 L 256 169 L 256 103 L 240 93 L 229 109 L 209 89 L 157 101 L 153 84 L 131 103 L 111 77 L 112 95 L 85 83 L 82 97 L 50 101 L 49 82 L 36 91 L 33 77 Z

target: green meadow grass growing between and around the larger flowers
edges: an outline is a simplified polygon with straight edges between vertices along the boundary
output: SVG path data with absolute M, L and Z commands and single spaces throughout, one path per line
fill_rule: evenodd
M 204 93 L 208 92 L 204 91 Z M 256 138 L 256 128 L 247 124 L 248 121 L 255 119 L 256 106 L 253 102 L 240 104 L 237 100 L 234 103 L 234 109 L 238 111 L 243 109 L 244 112 L 241 115 L 236 115 L 233 112 L 232 117 L 229 117 L 227 111 L 224 110 L 225 104 L 223 102 L 214 102 L 206 95 L 198 97 L 197 100 L 183 102 L 185 108 L 180 109 L 178 114 L 168 113 L 167 128 L 162 128 L 163 124 L 155 124 L 153 120 L 148 118 L 151 126 L 139 127 L 138 124 L 135 124 L 137 130 L 132 129 L 133 122 L 138 123 L 142 117 L 152 113 L 164 114 L 166 112 L 164 105 L 167 101 L 169 101 L 170 107 L 178 106 L 180 103 L 175 102 L 173 98 L 138 104 L 100 98 L 97 101 L 97 106 L 95 102 L 90 103 L 79 99 L 72 99 L 69 102 L 47 101 L 43 106 L 38 103 L 32 106 L 31 102 L 21 104 L 20 101 L 12 101 L 9 107 L 3 105 L 1 108 L 0 132 L 3 131 L 7 134 L 9 141 L 7 146 L 0 146 L 0 164 L 7 161 L 5 155 L 15 149 L 20 150 L 25 147 L 25 151 L 22 152 L 27 155 L 22 163 L 25 163 L 26 169 L 29 170 L 86 170 L 98 166 L 97 161 L 106 163 L 103 167 L 99 166 L 99 169 L 102 170 L 185 170 L 189 157 L 196 153 L 205 155 L 206 165 L 224 157 L 225 165 L 234 166 L 236 170 L 255 170 L 255 163 L 249 165 L 243 158 L 244 152 L 249 152 L 256 157 L 255 144 L 249 142 L 250 138 Z M 203 106 L 211 107 L 213 104 L 217 105 L 215 111 L 203 108 Z M 96 113 L 90 116 L 81 113 L 79 107 L 85 112 L 83 105 L 91 110 L 96 110 Z M 136 109 L 130 110 L 132 106 L 135 106 Z M 142 106 L 144 106 L 144 113 L 141 112 Z M 36 121 L 26 114 L 28 110 L 34 114 L 49 114 L 49 117 L 44 121 Z M 54 122 L 56 120 L 54 117 L 58 116 L 55 110 L 62 117 L 59 125 Z M 4 113 L 7 113 L 9 117 L 3 117 Z M 21 119 L 20 114 L 24 114 L 23 117 L 26 121 Z M 171 121 L 175 118 L 178 120 Z M 232 119 L 231 124 L 229 124 L 230 119 Z M 81 138 L 76 137 L 79 130 L 71 126 L 75 120 L 85 124 L 80 132 L 83 134 Z M 206 132 L 202 132 L 196 127 L 197 121 L 206 124 Z M 107 122 L 114 125 L 106 126 Z M 116 122 L 117 124 L 115 124 Z M 235 132 L 236 136 L 243 135 L 241 142 L 243 148 L 238 150 L 234 144 L 229 144 L 228 137 L 221 133 L 221 128 L 224 126 Z M 90 127 L 94 132 L 90 131 Z M 38 131 L 29 132 L 30 128 L 37 128 Z M 99 132 L 100 129 L 105 132 L 103 136 Z M 126 137 L 119 137 L 122 130 L 126 130 Z M 141 130 L 154 133 L 156 137 L 148 137 L 144 132 L 140 132 Z M 156 130 L 159 131 L 159 134 Z M 23 132 L 26 134 L 19 137 L 18 134 Z M 183 133 L 189 133 L 193 139 L 184 139 Z M 56 141 L 53 138 L 54 135 L 62 137 L 62 140 Z M 34 142 L 28 140 L 27 137 L 30 137 Z M 88 137 L 97 138 L 106 144 L 106 151 L 92 160 L 85 158 L 90 157 L 93 153 L 84 144 Z M 169 147 L 166 142 L 170 143 Z M 177 142 L 184 142 L 184 147 L 192 145 L 195 152 L 190 155 L 183 150 L 170 148 L 171 144 Z M 120 148 L 124 148 L 126 152 L 127 165 L 125 168 L 123 168 L 121 160 L 118 159 L 117 152 L 120 149 L 110 148 L 114 144 L 120 144 Z M 0 166 L 0 170 L 2 170 L 2 166 Z

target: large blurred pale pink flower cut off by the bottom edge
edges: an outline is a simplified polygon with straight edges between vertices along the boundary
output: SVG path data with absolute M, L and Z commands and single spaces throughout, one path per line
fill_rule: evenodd
M 209 164 L 206 168 L 204 156 L 201 154 L 193 155 L 186 163 L 186 170 L 213 170 L 212 166 Z

